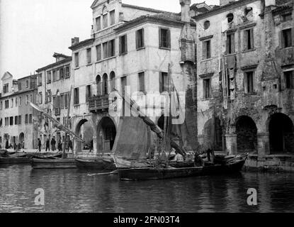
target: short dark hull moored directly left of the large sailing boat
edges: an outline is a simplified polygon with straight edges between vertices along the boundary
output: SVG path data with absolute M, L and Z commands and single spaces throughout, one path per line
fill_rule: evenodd
M 114 162 L 111 160 L 81 160 L 76 159 L 77 168 L 80 170 L 116 170 Z

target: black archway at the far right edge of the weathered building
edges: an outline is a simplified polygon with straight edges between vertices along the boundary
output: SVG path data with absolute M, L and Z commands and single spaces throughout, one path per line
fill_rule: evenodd
M 294 126 L 285 114 L 273 114 L 268 124 L 271 153 L 294 153 Z

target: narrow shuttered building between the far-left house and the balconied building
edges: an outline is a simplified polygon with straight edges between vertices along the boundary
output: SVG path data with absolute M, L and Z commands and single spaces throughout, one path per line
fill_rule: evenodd
M 66 125 L 72 87 L 72 57 L 56 52 L 53 57 L 55 57 L 54 63 L 36 70 L 38 73 L 36 103 L 40 108 L 47 111 L 47 114 Z M 68 122 L 70 128 L 71 121 Z M 43 149 L 46 146 L 46 140 L 51 141 L 53 137 L 57 142 L 64 141 L 65 133 L 57 130 L 52 125 L 52 121 L 38 113 L 38 138 L 41 140 Z

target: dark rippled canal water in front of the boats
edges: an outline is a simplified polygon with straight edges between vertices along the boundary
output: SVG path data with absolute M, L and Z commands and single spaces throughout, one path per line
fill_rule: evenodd
M 242 172 L 147 182 L 88 174 L 32 170 L 30 165 L 0 167 L 0 213 L 294 211 L 294 174 L 289 173 Z M 247 204 L 249 188 L 257 190 L 257 206 Z M 35 205 L 35 189 L 44 189 L 45 206 Z

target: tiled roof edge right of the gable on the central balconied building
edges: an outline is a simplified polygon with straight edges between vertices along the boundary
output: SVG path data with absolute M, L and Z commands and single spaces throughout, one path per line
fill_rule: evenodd
M 132 26 L 140 23 L 145 23 L 147 21 L 152 23 L 166 23 L 178 26 L 182 26 L 184 24 L 184 22 L 181 21 L 181 16 L 179 16 L 179 13 L 158 13 L 154 15 L 140 16 L 132 21 L 125 22 L 122 26 L 115 28 L 115 31 L 121 31 L 125 28 L 130 28 Z M 196 23 L 194 23 L 193 21 L 191 21 L 191 24 L 196 25 Z

